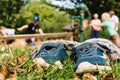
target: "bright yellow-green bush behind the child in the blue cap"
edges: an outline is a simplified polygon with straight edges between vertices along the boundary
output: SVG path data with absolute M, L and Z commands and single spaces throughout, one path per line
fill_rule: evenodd
M 40 26 L 44 32 L 61 32 L 62 27 L 69 25 L 70 15 L 59 9 L 55 9 L 46 4 L 41 3 L 28 3 L 20 10 L 20 17 L 24 19 L 24 22 L 29 23 L 35 13 L 40 16 Z M 22 25 L 20 22 L 19 24 Z

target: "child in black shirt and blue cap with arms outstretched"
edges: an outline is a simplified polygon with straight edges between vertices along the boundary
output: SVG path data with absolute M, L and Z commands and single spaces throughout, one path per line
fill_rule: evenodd
M 26 29 L 26 34 L 36 34 L 37 32 L 39 32 L 40 34 L 43 34 L 42 29 L 39 28 L 38 22 L 39 22 L 39 16 L 37 14 L 35 14 L 31 23 L 23 25 L 22 27 L 17 28 L 17 30 L 22 31 L 22 30 Z M 26 39 L 26 42 L 28 44 L 32 43 L 32 45 L 34 46 L 35 38 Z

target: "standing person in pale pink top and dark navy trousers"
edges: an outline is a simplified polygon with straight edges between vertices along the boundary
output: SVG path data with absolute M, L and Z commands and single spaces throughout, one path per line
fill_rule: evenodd
M 91 38 L 98 38 L 99 37 L 99 31 L 101 30 L 101 26 L 97 26 L 101 24 L 101 20 L 98 19 L 98 14 L 93 14 L 93 18 L 89 24 L 91 29 Z

